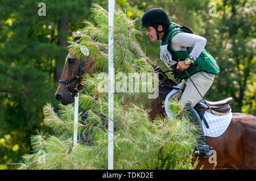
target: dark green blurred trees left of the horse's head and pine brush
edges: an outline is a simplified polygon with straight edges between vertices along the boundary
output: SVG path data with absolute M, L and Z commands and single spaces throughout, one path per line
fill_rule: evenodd
M 39 2 L 1 1 L 0 164 L 18 162 L 31 150 L 31 134 L 46 129 L 42 107 L 57 105 L 68 31 L 90 17 L 91 1 L 46 0 L 46 16 L 38 15 Z

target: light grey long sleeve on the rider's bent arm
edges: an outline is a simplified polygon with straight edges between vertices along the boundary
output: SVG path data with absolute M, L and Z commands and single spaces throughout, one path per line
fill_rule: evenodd
M 175 51 L 186 51 L 187 47 L 193 47 L 193 50 L 189 55 L 193 56 L 196 60 L 203 51 L 206 43 L 207 39 L 204 37 L 192 33 L 181 32 L 172 37 L 171 48 Z

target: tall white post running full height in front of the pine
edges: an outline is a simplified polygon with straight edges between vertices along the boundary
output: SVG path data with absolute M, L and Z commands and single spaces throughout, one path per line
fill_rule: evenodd
M 115 0 L 109 0 L 109 123 L 108 169 L 114 169 L 114 12 Z

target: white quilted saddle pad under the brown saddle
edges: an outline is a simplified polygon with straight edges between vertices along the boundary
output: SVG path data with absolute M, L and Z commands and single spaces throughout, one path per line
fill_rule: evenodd
M 177 88 L 180 86 L 177 85 Z M 176 94 L 176 92 L 179 90 L 172 90 L 167 96 L 166 100 L 164 101 L 164 108 L 166 110 L 166 114 L 169 118 L 173 116 L 172 111 L 170 110 L 170 106 L 168 106 L 169 99 L 172 95 Z M 223 134 L 226 129 L 228 128 L 230 121 L 232 120 L 233 113 L 230 112 L 226 115 L 218 116 L 218 115 L 213 115 L 210 112 L 205 111 L 204 117 L 205 120 L 207 120 L 207 123 L 209 125 L 209 129 L 205 127 L 204 121 L 202 121 L 203 129 L 204 129 L 204 134 L 205 136 L 209 137 L 218 137 Z

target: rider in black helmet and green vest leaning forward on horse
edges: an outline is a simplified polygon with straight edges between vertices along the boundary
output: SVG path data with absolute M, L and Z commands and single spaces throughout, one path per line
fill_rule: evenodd
M 193 108 L 201 100 L 195 86 L 204 96 L 213 83 L 214 75 L 220 72 L 216 60 L 204 49 L 207 40 L 187 27 L 170 22 L 166 12 L 159 8 L 145 12 L 140 28 L 146 28 L 146 35 L 151 41 L 161 41 L 160 59 L 171 69 L 176 69 L 174 77 L 180 79 L 180 87 L 184 90 L 180 102 L 199 128 L 200 145 L 195 150 L 202 157 L 209 156 L 210 146 L 204 136 L 201 118 Z M 187 70 L 195 86 L 184 70 Z

